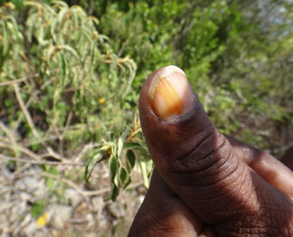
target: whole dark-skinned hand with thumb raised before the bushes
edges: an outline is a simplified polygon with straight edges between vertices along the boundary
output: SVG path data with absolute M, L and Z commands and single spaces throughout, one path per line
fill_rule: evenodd
M 156 169 L 129 237 L 293 236 L 293 173 L 214 128 L 183 71 L 155 71 L 139 107 Z

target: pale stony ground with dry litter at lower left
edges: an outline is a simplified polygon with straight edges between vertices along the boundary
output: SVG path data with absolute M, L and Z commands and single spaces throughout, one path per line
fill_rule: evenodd
M 129 226 L 144 199 L 146 188 L 138 174 L 116 202 L 107 199 L 107 162 L 95 166 L 90 185 L 78 170 L 55 166 L 59 175 L 43 172 L 43 166 L 0 160 L 0 233 L 2 237 L 108 237 L 127 236 Z M 69 169 L 75 175 L 68 174 Z M 80 172 L 82 173 L 82 172 Z

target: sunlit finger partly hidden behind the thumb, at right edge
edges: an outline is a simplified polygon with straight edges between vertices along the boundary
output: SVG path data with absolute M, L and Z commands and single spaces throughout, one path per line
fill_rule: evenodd
M 225 137 L 229 139 L 233 151 L 264 180 L 285 194 L 293 196 L 293 173 L 288 166 L 284 166 L 267 152 L 243 144 L 234 137 Z

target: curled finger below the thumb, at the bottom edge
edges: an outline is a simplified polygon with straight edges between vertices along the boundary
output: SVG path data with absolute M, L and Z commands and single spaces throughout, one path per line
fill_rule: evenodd
M 128 237 L 197 237 L 203 224 L 180 200 L 156 169 L 144 203 L 139 208 Z M 213 237 L 213 230 L 205 235 Z

